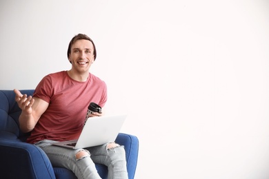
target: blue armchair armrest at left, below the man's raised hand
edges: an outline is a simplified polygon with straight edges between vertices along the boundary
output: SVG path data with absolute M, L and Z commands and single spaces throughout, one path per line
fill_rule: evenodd
M 55 178 L 46 154 L 35 145 L 0 138 L 3 178 Z

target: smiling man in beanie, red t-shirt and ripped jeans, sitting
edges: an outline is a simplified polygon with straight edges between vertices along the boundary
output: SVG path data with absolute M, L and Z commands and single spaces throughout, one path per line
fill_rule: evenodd
M 51 145 L 77 139 L 83 128 L 90 102 L 103 107 L 107 101 L 106 83 L 89 72 L 97 51 L 90 37 L 77 34 L 68 46 L 71 70 L 48 74 L 37 85 L 33 97 L 14 89 L 21 108 L 21 131 L 32 131 L 28 143 L 43 149 L 52 166 L 66 167 L 77 178 L 100 178 L 94 162 L 108 166 L 108 178 L 128 178 L 123 147 L 116 143 L 66 149 Z M 99 113 L 88 117 L 101 116 Z

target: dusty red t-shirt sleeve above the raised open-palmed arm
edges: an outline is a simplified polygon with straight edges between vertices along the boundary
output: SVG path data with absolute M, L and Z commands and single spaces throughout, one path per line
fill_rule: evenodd
M 52 90 L 51 78 L 50 76 L 45 76 L 37 85 L 33 96 L 36 98 L 41 98 L 43 101 L 50 103 Z

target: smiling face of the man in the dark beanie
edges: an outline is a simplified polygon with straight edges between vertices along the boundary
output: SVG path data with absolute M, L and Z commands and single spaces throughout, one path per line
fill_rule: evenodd
M 78 40 L 71 47 L 69 61 L 72 69 L 79 73 L 87 72 L 94 62 L 94 47 L 88 40 Z

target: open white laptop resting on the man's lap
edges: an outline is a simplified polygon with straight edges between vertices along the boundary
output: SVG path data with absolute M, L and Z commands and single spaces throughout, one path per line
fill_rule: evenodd
M 52 143 L 52 145 L 69 149 L 80 149 L 113 143 L 126 117 L 127 115 L 115 115 L 88 118 L 77 140 L 67 140 Z

